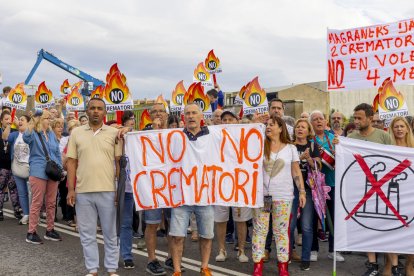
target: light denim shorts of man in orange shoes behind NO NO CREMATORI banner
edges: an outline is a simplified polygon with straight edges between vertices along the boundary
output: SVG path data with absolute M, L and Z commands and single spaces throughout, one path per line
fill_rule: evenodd
M 171 210 L 170 236 L 185 237 L 194 212 L 198 234 L 204 239 L 214 238 L 214 206 L 188 206 L 183 205 Z

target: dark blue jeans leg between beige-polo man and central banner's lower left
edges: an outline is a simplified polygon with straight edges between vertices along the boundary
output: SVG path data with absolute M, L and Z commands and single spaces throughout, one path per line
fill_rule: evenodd
M 125 193 L 124 209 L 122 210 L 120 248 L 122 259 L 132 260 L 132 215 L 134 212 L 134 197 Z

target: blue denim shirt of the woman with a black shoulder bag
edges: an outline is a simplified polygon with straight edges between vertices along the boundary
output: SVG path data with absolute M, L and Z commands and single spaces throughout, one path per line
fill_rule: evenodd
M 43 132 L 41 135 L 44 135 Z M 59 151 L 59 141 L 53 131 L 47 131 L 48 141 L 43 136 L 43 142 L 45 143 L 46 149 L 48 150 L 49 157 L 51 160 L 62 166 L 62 157 Z M 42 143 L 40 142 L 39 136 L 35 131 L 26 131 L 23 134 L 23 141 L 30 147 L 30 176 L 38 177 L 41 179 L 49 179 L 45 173 L 46 170 L 46 155 L 43 151 Z

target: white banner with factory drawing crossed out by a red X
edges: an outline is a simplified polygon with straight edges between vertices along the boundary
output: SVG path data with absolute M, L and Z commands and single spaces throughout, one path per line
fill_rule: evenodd
M 340 138 L 335 250 L 414 253 L 414 149 Z

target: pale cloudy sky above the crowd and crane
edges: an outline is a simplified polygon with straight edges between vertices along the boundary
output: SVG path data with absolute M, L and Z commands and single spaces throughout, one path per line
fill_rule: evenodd
M 223 91 L 326 80 L 326 32 L 411 18 L 408 0 L 0 0 L 3 84 L 23 82 L 45 49 L 105 80 L 118 63 L 134 99 L 170 99 L 214 49 Z M 30 84 L 59 94 L 78 79 L 43 61 Z M 30 92 L 29 92 L 30 93 Z

